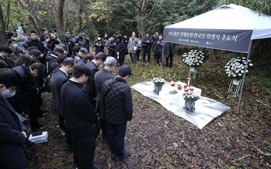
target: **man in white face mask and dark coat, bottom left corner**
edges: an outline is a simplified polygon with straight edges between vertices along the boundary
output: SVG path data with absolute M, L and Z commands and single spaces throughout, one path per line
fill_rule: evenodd
M 5 98 L 14 96 L 22 83 L 13 69 L 0 69 L 0 164 L 1 168 L 26 169 L 27 153 L 23 143 L 27 139 L 26 127 Z

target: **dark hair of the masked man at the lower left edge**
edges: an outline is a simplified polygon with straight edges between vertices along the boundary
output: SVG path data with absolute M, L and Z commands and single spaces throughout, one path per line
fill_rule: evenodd
M 4 84 L 6 89 L 12 86 L 19 86 L 22 83 L 22 78 L 18 72 L 13 69 L 0 69 L 0 84 Z

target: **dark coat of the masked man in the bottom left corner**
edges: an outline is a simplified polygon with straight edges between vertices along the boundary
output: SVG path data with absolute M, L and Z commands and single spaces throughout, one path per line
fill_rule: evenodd
M 6 99 L 0 98 L 0 164 L 1 168 L 25 169 L 27 153 L 23 143 L 25 136 L 21 132 L 20 122 L 15 110 Z

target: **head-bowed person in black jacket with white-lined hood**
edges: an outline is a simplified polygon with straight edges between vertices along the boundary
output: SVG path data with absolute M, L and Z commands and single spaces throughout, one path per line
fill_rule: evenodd
M 49 51 L 46 55 L 46 61 L 47 61 L 47 73 L 51 74 L 53 71 L 52 64 L 56 62 L 57 57 L 64 54 L 64 49 L 60 46 L 57 46 L 54 48 L 54 51 Z

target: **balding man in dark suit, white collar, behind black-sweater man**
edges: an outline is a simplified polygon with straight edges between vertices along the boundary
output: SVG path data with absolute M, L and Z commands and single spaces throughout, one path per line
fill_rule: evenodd
M 66 130 L 66 125 L 64 123 L 64 112 L 63 112 L 63 106 L 62 106 L 62 99 L 60 90 L 62 86 L 68 82 L 69 80 L 69 74 L 71 74 L 74 65 L 76 64 L 75 60 L 72 58 L 67 58 L 63 61 L 62 67 L 59 68 L 57 73 L 54 75 L 54 92 L 57 100 L 57 114 L 58 114 L 58 122 L 60 129 L 62 129 L 65 132 L 66 140 L 68 142 L 68 145 L 70 148 L 72 148 L 72 140 L 71 140 L 71 134 L 69 131 Z

